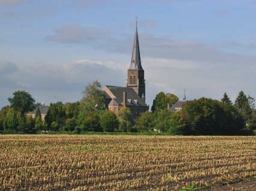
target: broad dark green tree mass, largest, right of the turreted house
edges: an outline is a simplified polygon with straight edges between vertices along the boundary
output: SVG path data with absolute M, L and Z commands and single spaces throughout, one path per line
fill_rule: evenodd
M 236 108 L 217 100 L 186 102 L 182 112 L 192 135 L 237 135 L 244 127 Z

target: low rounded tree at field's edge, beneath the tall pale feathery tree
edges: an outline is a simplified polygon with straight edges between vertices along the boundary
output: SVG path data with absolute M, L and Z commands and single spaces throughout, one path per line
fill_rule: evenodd
M 100 117 L 96 112 L 91 112 L 85 116 L 82 125 L 84 126 L 84 130 L 87 132 L 102 132 Z

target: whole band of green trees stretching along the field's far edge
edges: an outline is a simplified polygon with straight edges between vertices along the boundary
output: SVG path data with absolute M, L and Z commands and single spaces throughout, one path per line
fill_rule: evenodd
M 40 111 L 34 118 L 26 115 L 37 108 L 32 96 L 16 91 L 8 99 L 10 106 L 0 112 L 0 131 L 19 133 L 40 132 L 158 132 L 169 135 L 252 135 L 256 129 L 254 99 L 239 92 L 234 103 L 227 94 L 222 100 L 201 98 L 183 103 L 181 111 L 167 108 L 178 101 L 174 94 L 160 92 L 153 101 L 151 112 L 134 117 L 128 108 L 118 116 L 108 111 L 100 83 L 88 85 L 80 102 L 51 103 L 45 120 Z

